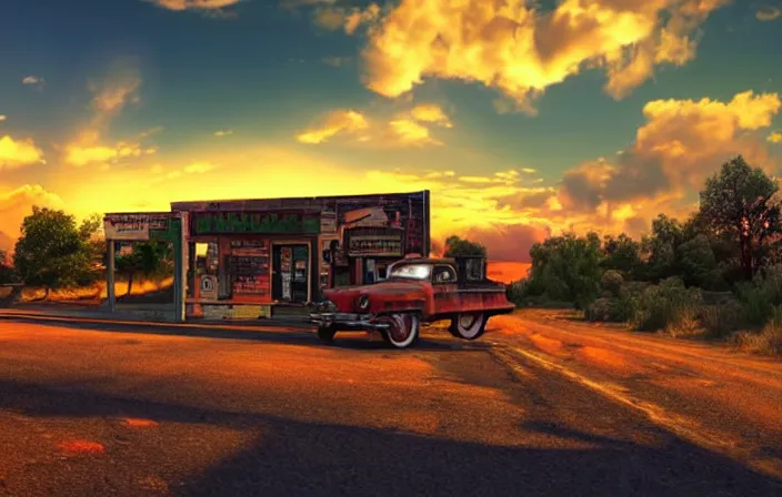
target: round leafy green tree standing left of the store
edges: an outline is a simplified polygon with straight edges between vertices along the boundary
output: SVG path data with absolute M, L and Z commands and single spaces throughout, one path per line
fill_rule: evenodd
M 64 211 L 32 207 L 24 217 L 17 241 L 13 266 L 21 281 L 43 286 L 44 298 L 52 288 L 77 286 L 92 278 L 89 225 L 77 226 Z

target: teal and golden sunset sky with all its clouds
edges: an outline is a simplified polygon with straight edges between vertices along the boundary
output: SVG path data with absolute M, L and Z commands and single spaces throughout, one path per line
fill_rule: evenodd
M 423 189 L 494 260 L 638 236 L 779 172 L 779 47 L 782 0 L 6 0 L 0 248 L 32 205 Z

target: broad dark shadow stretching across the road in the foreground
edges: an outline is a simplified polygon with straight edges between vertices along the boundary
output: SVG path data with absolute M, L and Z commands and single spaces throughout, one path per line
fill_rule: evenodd
M 782 491 L 779 480 L 675 438 L 664 447 L 648 447 L 560 429 L 559 435 L 595 448 L 502 447 L 153 403 L 89 388 L 0 382 L 0 408 L 32 417 L 150 417 L 198 424 L 203 430 L 220 426 L 261 434 L 205 471 L 171 481 L 172 495 L 773 496 Z M 112 467 L 118 466 L 87 470 L 103 481 L 100 471 Z M 104 483 L 96 485 L 96 490 L 112 490 L 99 488 Z M 58 491 L 51 495 L 64 495 Z M 119 494 L 133 495 L 129 488 Z

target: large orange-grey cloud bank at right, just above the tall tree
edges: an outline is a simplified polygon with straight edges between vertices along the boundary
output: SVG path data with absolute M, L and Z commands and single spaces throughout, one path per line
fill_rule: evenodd
M 775 168 L 766 144 L 751 132 L 770 126 L 781 108 L 778 94 L 751 91 L 729 102 L 649 102 L 634 143 L 612 161 L 601 158 L 568 171 L 547 200 L 548 212 L 616 230 L 643 225 L 659 212 L 685 215 L 693 205 L 683 199 L 732 156 L 741 153 L 754 165 Z

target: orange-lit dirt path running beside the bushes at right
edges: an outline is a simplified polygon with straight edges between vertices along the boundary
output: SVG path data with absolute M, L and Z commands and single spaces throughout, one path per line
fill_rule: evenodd
M 524 310 L 488 339 L 683 436 L 782 476 L 782 361 Z

